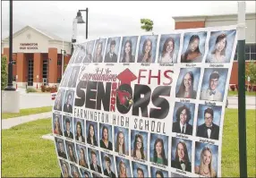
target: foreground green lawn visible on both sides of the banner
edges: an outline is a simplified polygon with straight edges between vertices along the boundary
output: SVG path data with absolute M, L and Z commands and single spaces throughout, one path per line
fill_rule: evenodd
M 248 176 L 255 177 L 255 110 L 247 110 Z M 226 109 L 222 176 L 239 177 L 237 109 Z M 2 176 L 59 177 L 55 146 L 41 136 L 51 132 L 51 119 L 2 131 Z M 33 134 L 31 134 L 33 133 Z

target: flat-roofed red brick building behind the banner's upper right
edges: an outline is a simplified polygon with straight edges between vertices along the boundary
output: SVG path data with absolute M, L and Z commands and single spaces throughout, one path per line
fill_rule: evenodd
M 173 19 L 175 20 L 175 30 L 218 27 L 236 25 L 237 13 L 209 16 L 176 16 L 173 17 Z M 252 60 L 256 63 L 256 13 L 246 13 L 245 22 L 245 63 L 248 63 Z M 238 84 L 237 51 L 235 51 L 235 62 L 233 64 L 229 84 Z

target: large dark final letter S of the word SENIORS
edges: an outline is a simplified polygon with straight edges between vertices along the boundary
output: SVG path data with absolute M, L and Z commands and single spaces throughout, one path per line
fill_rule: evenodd
M 166 98 L 169 97 L 171 92 L 171 86 L 158 86 L 152 93 L 152 103 L 158 108 L 150 108 L 149 117 L 156 119 L 164 119 L 169 113 L 169 102 Z M 135 92 L 134 92 L 135 93 Z

